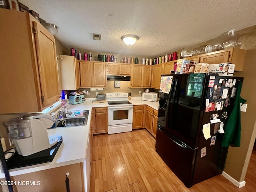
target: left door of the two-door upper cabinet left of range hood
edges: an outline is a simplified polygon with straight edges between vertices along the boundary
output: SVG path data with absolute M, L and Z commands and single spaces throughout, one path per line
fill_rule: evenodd
M 79 65 L 81 87 L 93 87 L 93 62 L 80 61 Z

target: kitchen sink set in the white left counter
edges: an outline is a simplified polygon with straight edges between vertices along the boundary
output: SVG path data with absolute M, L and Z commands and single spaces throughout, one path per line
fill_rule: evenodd
M 62 122 L 56 122 L 56 127 L 73 127 L 87 125 L 88 115 L 89 110 L 84 110 L 83 116 L 64 118 Z

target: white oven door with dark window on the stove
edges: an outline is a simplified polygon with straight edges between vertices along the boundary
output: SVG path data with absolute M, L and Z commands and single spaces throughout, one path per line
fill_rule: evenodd
M 108 125 L 132 123 L 132 106 L 108 106 Z

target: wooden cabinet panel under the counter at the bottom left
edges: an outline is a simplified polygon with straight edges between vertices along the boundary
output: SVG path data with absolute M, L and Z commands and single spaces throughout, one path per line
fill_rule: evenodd
M 70 191 L 85 191 L 84 190 L 84 167 L 82 163 L 61 166 L 52 169 L 41 170 L 28 174 L 13 176 L 12 181 L 16 181 L 16 191 L 66 191 L 66 173 L 69 173 Z M 34 185 L 18 185 L 18 181 L 35 182 Z M 38 184 L 40 182 L 40 184 Z M 88 184 L 87 184 L 88 185 Z

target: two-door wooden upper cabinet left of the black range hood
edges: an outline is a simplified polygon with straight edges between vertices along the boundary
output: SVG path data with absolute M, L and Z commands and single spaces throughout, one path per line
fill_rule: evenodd
M 82 88 L 106 87 L 106 63 L 80 61 L 80 84 Z

